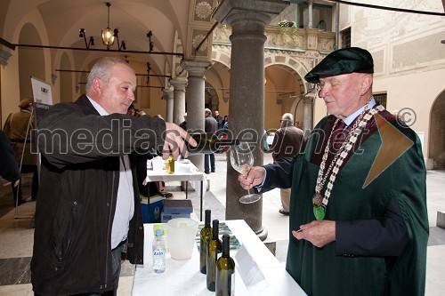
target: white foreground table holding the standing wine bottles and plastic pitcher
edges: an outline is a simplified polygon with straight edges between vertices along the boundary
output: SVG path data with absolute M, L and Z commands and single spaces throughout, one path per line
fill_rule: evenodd
M 255 286 L 246 286 L 239 275 L 239 262 L 235 269 L 235 295 L 293 295 L 304 296 L 302 288 L 290 276 L 285 264 L 279 262 L 269 249 L 260 241 L 244 220 L 226 220 L 233 235 L 237 236 L 240 244 L 244 244 L 254 258 L 258 268 L 263 273 L 264 280 Z M 199 252 L 195 246 L 190 260 L 172 260 L 166 255 L 166 272 L 156 274 L 153 272 L 151 256 L 151 242 L 153 228 L 151 224 L 144 224 L 144 265 L 137 265 L 134 274 L 134 296 L 163 295 L 163 296 L 214 296 L 214 292 L 206 289 L 206 275 L 199 271 Z M 231 251 L 235 258 L 236 251 Z M 236 258 L 235 258 L 236 260 Z

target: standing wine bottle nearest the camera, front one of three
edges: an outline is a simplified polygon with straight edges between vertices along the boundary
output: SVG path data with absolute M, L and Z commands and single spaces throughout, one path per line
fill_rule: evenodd
M 235 261 L 231 258 L 231 236 L 223 235 L 223 256 L 216 261 L 216 296 L 235 294 Z

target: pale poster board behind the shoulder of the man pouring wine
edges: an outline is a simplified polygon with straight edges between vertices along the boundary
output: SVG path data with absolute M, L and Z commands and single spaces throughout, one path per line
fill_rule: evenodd
M 31 76 L 32 93 L 34 96 L 34 111 L 36 116 L 36 126 L 44 114 L 53 106 L 53 94 L 51 85 Z

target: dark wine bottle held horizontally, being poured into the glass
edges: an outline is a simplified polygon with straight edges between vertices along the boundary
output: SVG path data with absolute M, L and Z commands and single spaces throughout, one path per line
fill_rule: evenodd
M 238 139 L 219 139 L 214 133 L 211 132 L 191 132 L 190 136 L 198 143 L 196 147 L 192 147 L 187 143 L 187 149 L 189 150 L 190 155 L 199 153 L 215 153 L 220 148 L 231 145 L 239 145 Z

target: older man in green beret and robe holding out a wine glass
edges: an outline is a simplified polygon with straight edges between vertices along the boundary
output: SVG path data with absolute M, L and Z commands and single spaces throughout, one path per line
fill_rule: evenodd
M 243 188 L 292 186 L 286 268 L 308 295 L 424 295 L 428 214 L 417 133 L 372 96 L 374 63 L 331 52 L 304 78 L 328 116 L 293 158 L 255 166 Z

